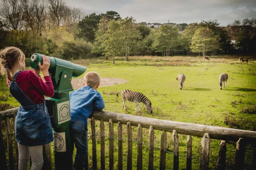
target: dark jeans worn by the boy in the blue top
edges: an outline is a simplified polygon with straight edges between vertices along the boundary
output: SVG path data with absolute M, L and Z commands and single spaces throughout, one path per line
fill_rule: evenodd
M 72 158 L 73 158 L 74 144 L 76 147 L 76 157 L 75 157 L 75 162 L 73 167 L 75 168 L 75 170 L 83 170 L 85 155 L 88 152 L 87 128 L 84 127 L 82 131 L 70 128 L 70 144 L 71 144 Z

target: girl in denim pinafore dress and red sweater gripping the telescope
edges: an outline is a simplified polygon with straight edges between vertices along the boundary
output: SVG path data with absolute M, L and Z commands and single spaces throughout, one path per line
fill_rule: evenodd
M 17 47 L 6 47 L 0 51 L 2 73 L 6 73 L 10 93 L 20 103 L 15 120 L 15 140 L 19 149 L 19 170 L 27 169 L 31 156 L 31 170 L 42 169 L 44 144 L 53 141 L 50 116 L 44 95 L 54 95 L 48 68 L 50 60 L 43 56 L 39 69 L 25 70 L 25 55 Z

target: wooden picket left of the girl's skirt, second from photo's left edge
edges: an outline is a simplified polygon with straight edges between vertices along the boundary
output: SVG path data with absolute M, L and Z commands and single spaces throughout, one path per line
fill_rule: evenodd
M 14 170 L 13 164 L 13 151 L 12 151 L 12 133 L 11 124 L 9 118 L 5 119 L 6 131 L 7 131 L 7 144 L 8 144 L 8 157 L 9 157 L 9 170 Z

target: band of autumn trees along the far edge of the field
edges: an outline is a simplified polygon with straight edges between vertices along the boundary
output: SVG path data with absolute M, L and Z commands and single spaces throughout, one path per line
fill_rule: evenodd
M 64 59 L 104 55 L 113 63 L 115 56 L 127 61 L 131 55 L 255 54 L 256 18 L 226 27 L 217 20 L 159 29 L 135 22 L 115 11 L 85 15 L 63 0 L 1 0 L 0 48 L 17 46 L 26 56 L 38 52 Z

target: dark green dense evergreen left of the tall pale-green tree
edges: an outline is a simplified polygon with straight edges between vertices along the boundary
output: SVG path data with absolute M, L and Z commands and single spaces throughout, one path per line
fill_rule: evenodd
M 101 15 L 97 15 L 96 13 L 89 14 L 85 16 L 82 21 L 78 24 L 78 38 L 83 38 L 86 41 L 93 42 L 95 38 L 95 31 L 98 29 L 98 24 L 100 19 L 102 18 Z

